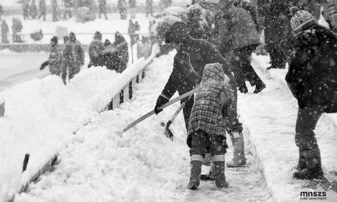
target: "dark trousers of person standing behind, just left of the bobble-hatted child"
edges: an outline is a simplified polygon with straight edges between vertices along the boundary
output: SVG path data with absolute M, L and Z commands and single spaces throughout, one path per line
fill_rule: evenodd
M 270 60 L 274 68 L 285 68 L 285 44 L 283 42 L 269 43 L 267 49 L 270 55 Z

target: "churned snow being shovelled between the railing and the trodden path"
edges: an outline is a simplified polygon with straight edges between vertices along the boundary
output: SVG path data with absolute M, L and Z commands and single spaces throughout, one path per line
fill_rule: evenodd
M 160 126 L 178 104 L 120 134 L 127 124 L 153 109 L 171 72 L 173 55 L 156 59 L 148 67 L 131 102 L 101 113 L 69 137 L 56 170 L 31 184 L 30 191 L 15 201 L 274 201 L 249 141 L 247 166 L 226 169 L 229 189 L 216 189 L 214 182 L 202 182 L 197 192 L 186 188 L 190 158 L 182 114 L 171 126 L 173 142 Z M 232 157 L 230 149 L 226 160 Z

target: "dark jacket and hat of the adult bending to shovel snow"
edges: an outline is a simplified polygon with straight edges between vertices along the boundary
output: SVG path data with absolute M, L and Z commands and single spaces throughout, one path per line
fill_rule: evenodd
M 188 78 L 186 72 L 193 72 L 194 75 L 197 73 L 202 76 L 205 65 L 211 63 L 220 63 L 225 74 L 234 81 L 229 64 L 217 47 L 206 40 L 193 39 L 188 35 L 182 24 L 181 22 L 174 23 L 166 33 L 165 40 L 167 43 L 172 41 L 180 43 L 182 50 L 189 55 L 190 61 L 188 63 L 190 66 L 181 63 L 181 61 L 185 61 L 185 58 L 181 58 L 183 56 L 181 53 L 178 52 L 174 56 L 173 70 L 162 95 L 170 99 L 178 89 L 191 89 L 191 86 L 198 84 L 198 82 L 196 82 L 196 79 Z

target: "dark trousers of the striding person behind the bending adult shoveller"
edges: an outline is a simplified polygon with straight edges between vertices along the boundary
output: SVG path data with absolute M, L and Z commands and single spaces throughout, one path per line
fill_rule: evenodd
M 251 86 L 263 83 L 254 68 L 250 65 L 250 56 L 257 46 L 258 44 L 249 45 L 234 49 L 233 51 L 234 75 L 239 88 L 246 86 L 245 80 L 248 80 Z

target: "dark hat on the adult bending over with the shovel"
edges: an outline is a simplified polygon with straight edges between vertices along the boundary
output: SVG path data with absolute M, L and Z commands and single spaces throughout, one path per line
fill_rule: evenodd
M 188 39 L 187 27 L 183 22 L 175 22 L 165 34 L 165 43 L 184 43 Z

